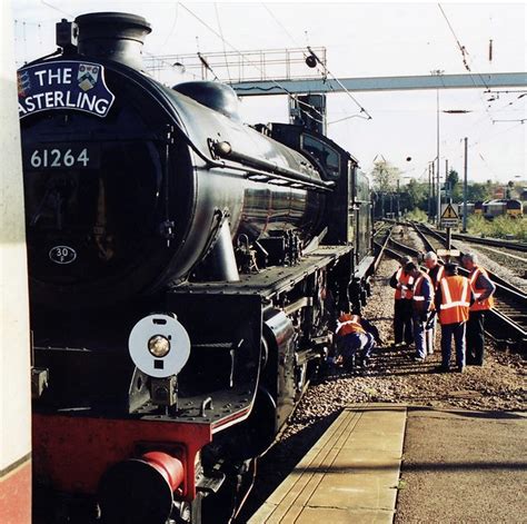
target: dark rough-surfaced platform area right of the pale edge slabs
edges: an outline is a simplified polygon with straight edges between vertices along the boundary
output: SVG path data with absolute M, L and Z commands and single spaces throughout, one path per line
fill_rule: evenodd
M 527 523 L 527 414 L 408 407 L 395 522 Z

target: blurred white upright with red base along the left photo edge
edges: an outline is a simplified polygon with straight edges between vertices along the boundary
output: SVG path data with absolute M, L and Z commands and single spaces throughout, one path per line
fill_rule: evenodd
M 11 2 L 0 2 L 0 522 L 31 523 L 29 297 Z

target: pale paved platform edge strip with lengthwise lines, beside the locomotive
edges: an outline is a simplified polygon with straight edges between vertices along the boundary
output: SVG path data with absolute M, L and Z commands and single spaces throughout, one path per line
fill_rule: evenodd
M 249 523 L 391 523 L 405 423 L 405 406 L 346 408 Z

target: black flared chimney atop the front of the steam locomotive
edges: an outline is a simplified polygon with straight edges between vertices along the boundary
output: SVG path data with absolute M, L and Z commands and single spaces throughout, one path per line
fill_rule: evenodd
M 126 12 L 93 12 L 74 21 L 79 26 L 80 55 L 142 69 L 142 45 L 151 32 L 145 18 Z

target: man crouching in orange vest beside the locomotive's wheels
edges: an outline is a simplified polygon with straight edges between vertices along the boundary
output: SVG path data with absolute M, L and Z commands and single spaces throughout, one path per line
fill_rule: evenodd
M 381 345 L 378 329 L 366 318 L 351 313 L 341 313 L 335 332 L 337 354 L 342 358 L 345 369 L 355 367 L 356 358 L 362 368 L 368 367 L 371 349 Z

